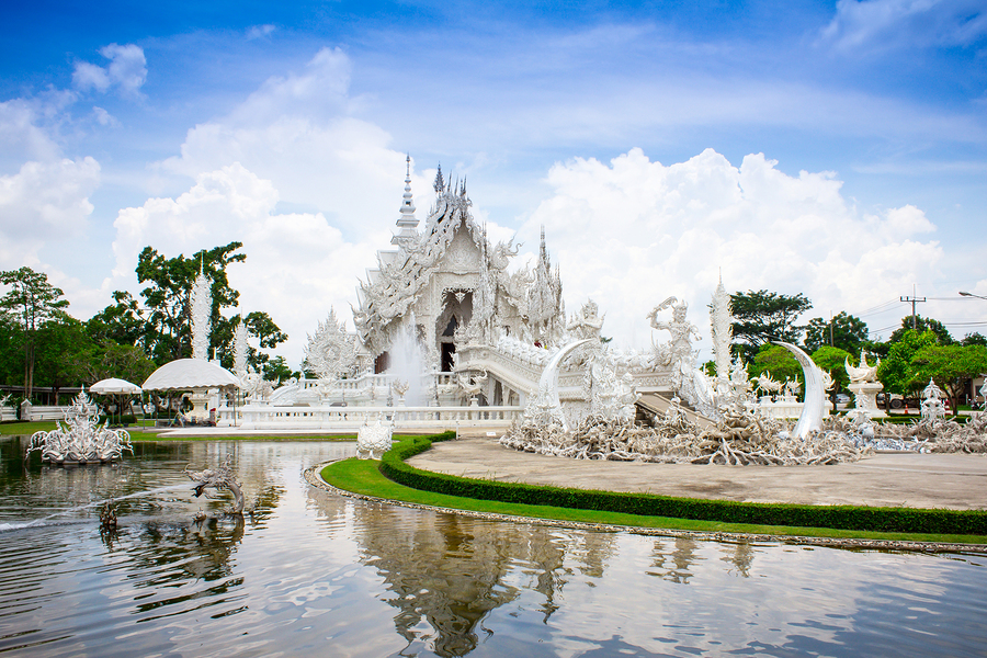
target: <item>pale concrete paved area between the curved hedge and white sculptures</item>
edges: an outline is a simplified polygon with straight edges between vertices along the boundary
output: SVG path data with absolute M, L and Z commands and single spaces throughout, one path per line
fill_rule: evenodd
M 883 453 L 833 466 L 644 464 L 548 457 L 463 438 L 408 463 L 472 478 L 745 502 L 987 509 L 987 456 Z

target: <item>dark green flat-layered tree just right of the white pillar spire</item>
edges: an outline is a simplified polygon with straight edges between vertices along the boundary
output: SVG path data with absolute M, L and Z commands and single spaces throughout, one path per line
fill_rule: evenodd
M 804 327 L 795 319 L 813 307 L 802 293 L 780 295 L 768 291 L 749 291 L 730 295 L 735 349 L 745 361 L 753 361 L 761 345 L 772 340 L 797 343 Z

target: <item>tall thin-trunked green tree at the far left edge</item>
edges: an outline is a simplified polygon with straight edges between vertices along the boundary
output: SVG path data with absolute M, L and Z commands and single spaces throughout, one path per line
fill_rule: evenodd
M 0 297 L 0 313 L 13 318 L 23 332 L 24 345 L 24 397 L 31 399 L 34 393 L 34 362 L 37 347 L 37 330 L 47 320 L 64 313 L 68 299 L 63 299 L 61 288 L 48 283 L 48 275 L 31 268 L 0 272 L 0 284 L 10 291 Z

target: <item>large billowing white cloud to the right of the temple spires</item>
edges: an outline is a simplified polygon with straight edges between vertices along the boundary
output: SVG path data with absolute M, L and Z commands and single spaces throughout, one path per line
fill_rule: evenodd
M 942 250 L 921 211 L 863 214 L 835 174 L 792 177 L 775 166 L 758 154 L 735 167 L 712 149 L 670 166 L 640 149 L 609 164 L 557 163 L 552 196 L 521 234 L 536 243 L 545 226 L 569 310 L 594 298 L 604 334 L 624 345 L 648 344 L 645 315 L 669 295 L 689 300 L 692 321 L 706 327 L 721 274 L 729 291 L 805 293 L 816 305 L 809 317 L 859 313 L 933 279 Z

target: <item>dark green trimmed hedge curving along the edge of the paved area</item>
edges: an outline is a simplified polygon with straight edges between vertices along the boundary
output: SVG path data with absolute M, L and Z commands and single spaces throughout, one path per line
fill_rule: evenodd
M 722 523 L 832 527 L 869 532 L 987 535 L 987 512 L 974 510 L 928 510 L 852 506 L 808 506 L 765 502 L 736 502 L 697 498 L 672 498 L 653 494 L 626 494 L 587 489 L 563 489 L 519 483 L 478 480 L 421 470 L 405 464 L 429 450 L 433 441 L 447 441 L 454 432 L 419 436 L 395 445 L 384 454 L 381 473 L 406 487 L 519 504 L 541 504 L 669 517 Z M 700 469 L 697 466 L 696 469 Z

